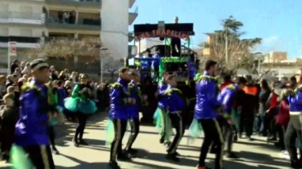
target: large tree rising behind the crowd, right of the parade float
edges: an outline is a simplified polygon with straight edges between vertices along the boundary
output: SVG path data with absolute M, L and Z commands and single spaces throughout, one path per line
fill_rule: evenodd
M 230 16 L 221 22 L 222 29 L 206 33 L 210 40 L 201 42 L 199 47 L 208 49 L 209 56 L 218 61 L 218 71 L 236 72 L 239 67 L 252 67 L 252 49 L 261 44 L 261 38 L 243 39 L 243 23 Z M 226 57 L 227 56 L 227 57 Z

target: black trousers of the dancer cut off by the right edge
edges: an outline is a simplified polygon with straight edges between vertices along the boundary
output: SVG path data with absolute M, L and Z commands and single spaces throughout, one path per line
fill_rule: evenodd
M 292 122 L 289 121 L 285 132 L 285 147 L 289 153 L 291 161 L 298 161 L 298 154 L 296 152 L 296 140 L 298 140 L 300 145 L 302 143 L 301 138 L 301 129 L 295 129 Z M 299 147 L 299 150 L 301 150 L 301 147 Z

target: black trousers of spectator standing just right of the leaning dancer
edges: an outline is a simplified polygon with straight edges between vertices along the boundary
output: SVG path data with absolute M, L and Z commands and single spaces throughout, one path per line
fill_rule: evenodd
M 252 129 L 254 128 L 254 115 L 242 115 L 239 120 L 239 136 L 243 131 L 246 131 L 246 136 L 252 136 Z

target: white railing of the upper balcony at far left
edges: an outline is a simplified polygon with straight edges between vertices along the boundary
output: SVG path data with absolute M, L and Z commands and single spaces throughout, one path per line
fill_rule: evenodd
M 22 13 L 22 12 L 9 12 L 0 13 L 1 19 L 41 19 L 42 13 Z

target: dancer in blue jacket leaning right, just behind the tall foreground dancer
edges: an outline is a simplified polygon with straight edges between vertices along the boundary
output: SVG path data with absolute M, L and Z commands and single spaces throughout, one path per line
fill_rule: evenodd
M 237 84 L 229 84 L 225 86 L 218 95 L 218 101 L 222 102 L 225 106 L 221 110 L 222 117 L 220 118 L 220 126 L 225 135 L 225 140 L 227 144 L 227 150 L 225 156 L 229 159 L 237 159 L 239 156 L 232 152 L 232 142 L 234 138 L 234 124 L 237 124 L 238 113 L 236 111 L 236 91 L 243 90 L 245 84 L 247 83 L 244 77 L 239 77 Z

